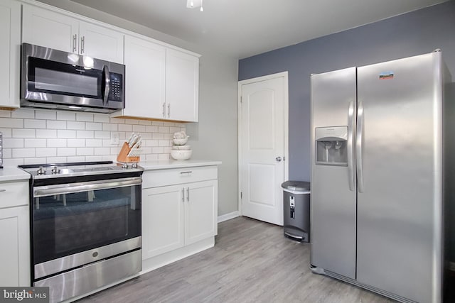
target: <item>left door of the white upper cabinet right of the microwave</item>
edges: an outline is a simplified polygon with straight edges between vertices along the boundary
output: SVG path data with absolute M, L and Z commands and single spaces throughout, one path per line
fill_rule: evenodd
M 126 106 L 124 116 L 165 119 L 166 48 L 125 36 Z

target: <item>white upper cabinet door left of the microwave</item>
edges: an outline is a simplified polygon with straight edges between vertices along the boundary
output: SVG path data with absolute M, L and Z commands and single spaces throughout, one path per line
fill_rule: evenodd
M 0 40 L 0 109 L 16 109 L 21 53 L 21 4 L 16 1 L 0 0 Z

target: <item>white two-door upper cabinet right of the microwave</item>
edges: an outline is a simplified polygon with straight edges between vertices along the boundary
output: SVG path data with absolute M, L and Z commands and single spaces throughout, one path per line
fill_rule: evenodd
M 199 57 L 125 35 L 125 109 L 113 117 L 198 121 Z

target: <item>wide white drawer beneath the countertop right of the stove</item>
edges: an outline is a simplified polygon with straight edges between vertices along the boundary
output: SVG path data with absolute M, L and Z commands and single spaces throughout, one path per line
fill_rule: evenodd
M 218 179 L 218 167 L 216 165 L 148 170 L 142 175 L 142 188 L 215 179 Z

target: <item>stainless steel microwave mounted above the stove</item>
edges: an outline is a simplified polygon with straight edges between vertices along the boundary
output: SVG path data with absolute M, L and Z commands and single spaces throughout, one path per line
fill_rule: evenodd
M 124 108 L 124 65 L 28 43 L 21 51 L 21 106 L 99 113 Z

